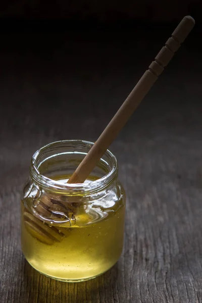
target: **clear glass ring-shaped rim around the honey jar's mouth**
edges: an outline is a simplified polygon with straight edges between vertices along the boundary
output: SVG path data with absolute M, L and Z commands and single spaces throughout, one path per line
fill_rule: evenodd
M 63 145 L 66 144 L 66 145 Z M 48 149 L 54 148 L 54 147 L 67 147 L 68 148 L 68 144 L 70 147 L 74 146 L 76 147 L 86 147 L 86 148 L 90 148 L 92 147 L 92 145 L 94 144 L 93 142 L 90 141 L 85 141 L 85 140 L 60 140 L 60 141 L 55 141 L 55 142 L 51 142 L 48 143 L 44 146 L 42 146 L 41 148 L 39 148 L 37 151 L 35 151 L 34 155 L 31 158 L 31 165 L 30 165 L 30 173 L 32 178 L 35 180 L 36 183 L 38 183 L 40 186 L 45 187 L 46 189 L 49 190 L 54 190 L 54 191 L 61 191 L 63 193 L 65 192 L 72 192 L 72 191 L 93 191 L 93 190 L 100 190 L 103 187 L 108 186 L 117 176 L 118 173 L 118 164 L 117 164 L 117 159 L 114 156 L 114 154 L 107 149 L 105 154 L 103 156 L 107 156 L 109 161 L 111 161 L 110 164 L 110 171 L 104 175 L 103 177 L 91 181 L 91 182 L 86 182 L 86 183 L 62 183 L 60 181 L 56 181 L 53 179 L 50 179 L 42 174 L 40 174 L 38 168 L 37 168 L 37 160 L 40 157 L 41 154 L 45 153 L 46 151 L 48 151 Z M 77 150 L 75 150 L 76 152 Z M 74 153 L 75 153 L 74 152 Z M 79 150 L 78 150 L 79 152 Z M 88 152 L 88 151 L 87 151 Z M 87 154 L 86 152 L 86 154 Z M 103 157 L 101 158 L 103 159 Z

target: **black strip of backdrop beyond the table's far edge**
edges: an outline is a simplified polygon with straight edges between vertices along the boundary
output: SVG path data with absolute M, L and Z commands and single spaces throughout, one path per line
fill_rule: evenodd
M 200 0 L 45 0 L 9 1 L 1 4 L 1 17 L 42 18 L 114 22 L 140 20 L 146 22 L 172 22 L 185 15 L 200 19 Z

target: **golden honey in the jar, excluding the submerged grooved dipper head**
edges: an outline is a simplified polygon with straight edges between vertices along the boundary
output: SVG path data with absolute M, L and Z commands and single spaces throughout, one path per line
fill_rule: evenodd
M 22 250 L 26 260 L 40 273 L 57 280 L 83 281 L 106 272 L 119 259 L 124 233 L 123 198 L 116 204 L 102 201 L 98 205 L 95 201 L 87 210 L 79 208 L 82 211 L 76 216 L 75 225 L 56 225 L 64 237 L 49 244 L 34 237 L 22 219 Z M 22 203 L 22 218 L 25 211 Z M 43 224 L 50 230 L 55 227 L 54 222 Z

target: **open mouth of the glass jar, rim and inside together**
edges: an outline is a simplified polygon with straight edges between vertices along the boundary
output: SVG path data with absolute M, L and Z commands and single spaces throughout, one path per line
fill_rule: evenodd
M 83 140 L 63 140 L 38 149 L 32 157 L 30 173 L 36 185 L 65 193 L 100 190 L 108 186 L 118 174 L 116 157 L 107 150 L 90 176 L 98 178 L 78 184 L 56 181 L 58 175 L 71 175 L 86 156 L 93 143 Z

